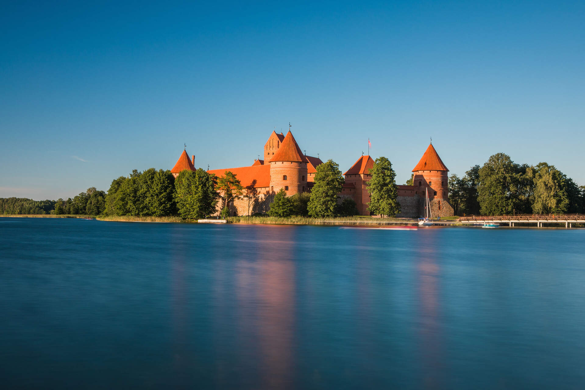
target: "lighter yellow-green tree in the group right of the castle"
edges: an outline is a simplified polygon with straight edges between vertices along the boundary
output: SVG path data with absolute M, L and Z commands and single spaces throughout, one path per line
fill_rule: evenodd
M 536 214 L 565 213 L 569 209 L 569 198 L 565 191 L 565 175 L 553 165 L 540 163 L 534 176 L 534 204 Z

